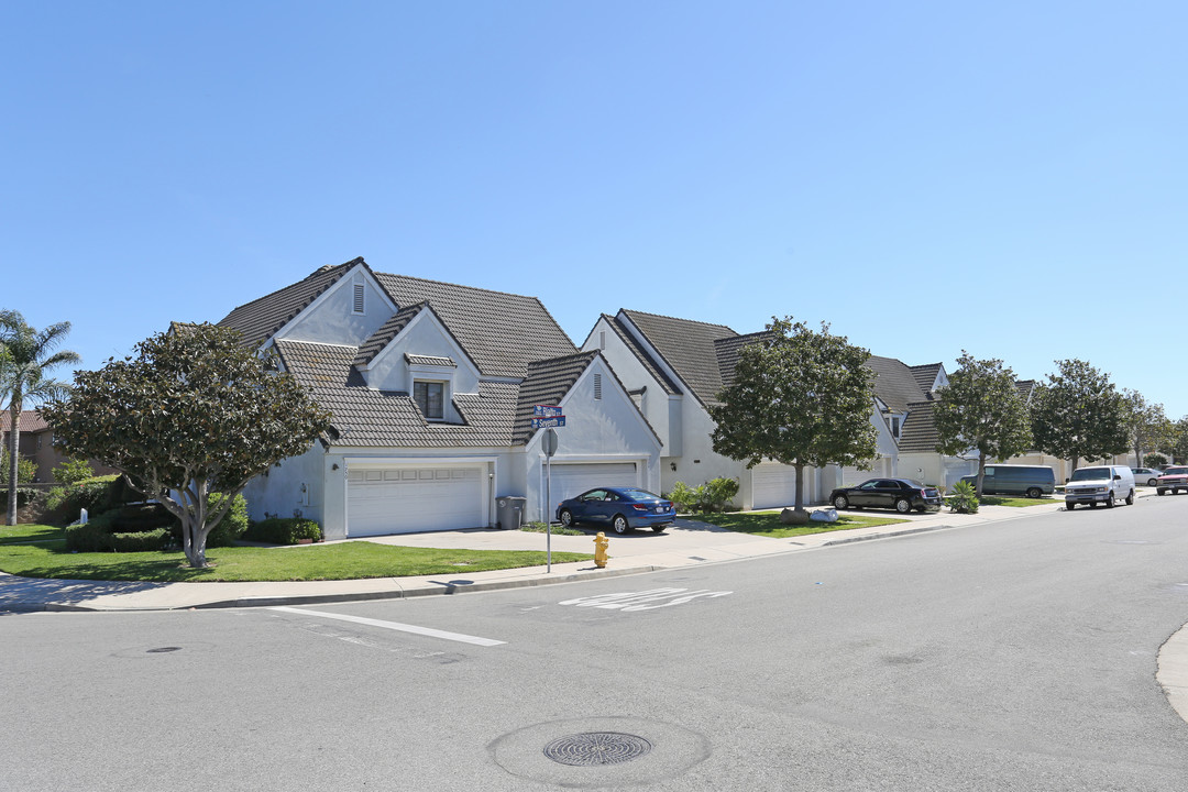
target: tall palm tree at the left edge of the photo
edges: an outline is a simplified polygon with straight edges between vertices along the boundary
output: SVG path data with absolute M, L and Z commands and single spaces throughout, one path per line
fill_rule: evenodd
M 8 525 L 17 525 L 17 450 L 20 443 L 20 411 L 25 401 L 61 394 L 68 386 L 48 374 L 65 363 L 77 363 L 78 354 L 53 351 L 70 332 L 69 322 L 44 330 L 29 327 L 19 311 L 0 311 L 0 401 L 8 399 Z

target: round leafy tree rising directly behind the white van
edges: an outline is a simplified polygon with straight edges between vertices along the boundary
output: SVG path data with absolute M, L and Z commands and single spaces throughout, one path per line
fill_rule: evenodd
M 1057 374 L 1036 388 L 1031 405 L 1031 432 L 1041 451 L 1070 460 L 1104 460 L 1125 454 L 1125 399 L 1110 381 L 1083 360 L 1059 360 Z

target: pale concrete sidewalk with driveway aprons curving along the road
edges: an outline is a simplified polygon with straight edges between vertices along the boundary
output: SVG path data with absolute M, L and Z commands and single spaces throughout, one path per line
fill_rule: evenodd
M 642 531 L 609 536 L 611 560 L 606 569 L 593 562 L 495 570 L 457 576 L 381 577 L 353 581 L 308 581 L 273 583 L 144 583 L 106 581 L 61 581 L 15 577 L 0 574 L 0 612 L 38 610 L 177 610 L 187 608 L 242 608 L 279 604 L 312 604 L 352 600 L 387 600 L 489 591 L 529 585 L 569 583 L 596 577 L 634 575 L 715 562 L 803 552 L 851 541 L 883 539 L 922 531 L 954 528 L 1031 517 L 1063 508 L 1063 501 L 1043 506 L 1011 508 L 984 506 L 978 514 L 910 514 L 904 524 L 871 528 L 832 531 L 791 539 L 769 539 L 734 533 L 695 520 L 678 520 L 664 533 Z M 874 512 L 864 512 L 874 514 Z M 898 517 L 898 515 L 893 515 Z M 524 531 L 444 531 L 349 541 L 412 547 L 457 547 L 468 550 L 544 550 L 543 533 Z M 593 553 L 593 534 L 555 536 L 551 549 Z M 285 552 L 285 549 L 277 549 Z

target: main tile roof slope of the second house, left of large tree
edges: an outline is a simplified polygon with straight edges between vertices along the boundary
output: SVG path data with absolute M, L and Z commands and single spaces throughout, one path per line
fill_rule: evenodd
M 737 336 L 734 330 L 725 324 L 693 322 L 626 309 L 620 313 L 636 325 L 702 405 L 718 401 L 718 393 L 722 389 L 722 372 L 714 342 Z

